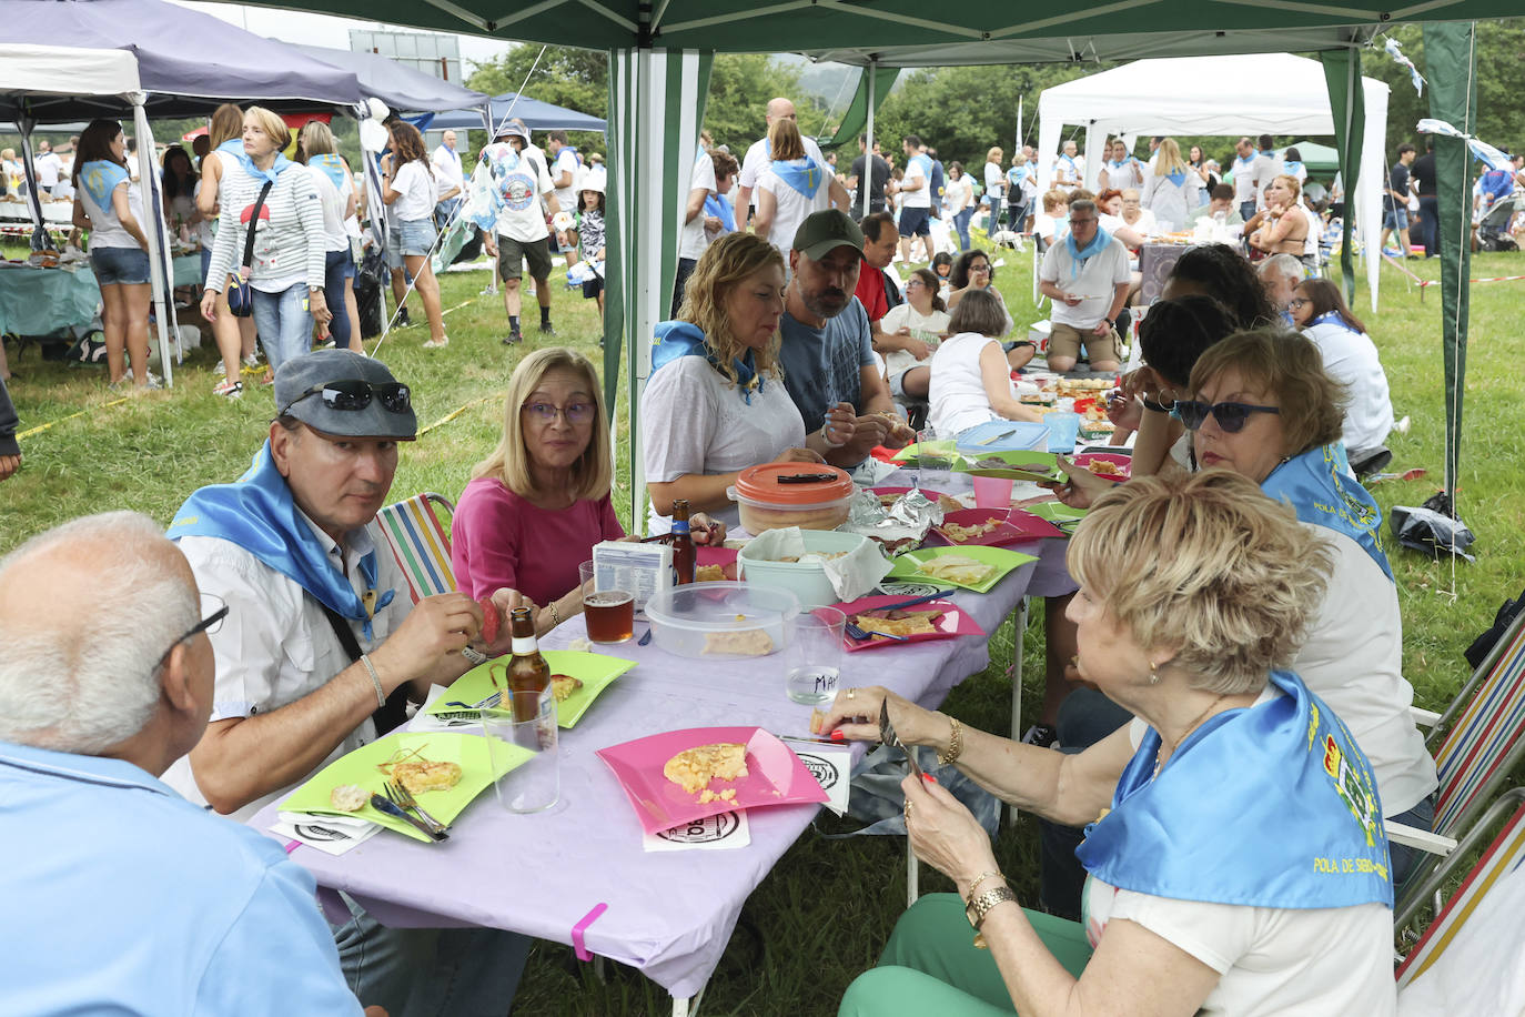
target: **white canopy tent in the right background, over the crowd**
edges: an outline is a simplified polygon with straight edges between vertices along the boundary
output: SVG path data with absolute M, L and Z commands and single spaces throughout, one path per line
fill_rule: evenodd
M 1356 224 L 1362 247 L 1382 236 L 1388 85 L 1362 78 L 1366 124 Z M 1334 134 L 1324 66 L 1290 53 L 1139 59 L 1115 70 L 1045 88 L 1039 96 L 1039 192 L 1048 191 L 1066 125 L 1086 128 L 1086 186 L 1095 189 L 1107 137 L 1139 134 Z M 1366 258 L 1371 308 L 1377 310 L 1382 259 Z

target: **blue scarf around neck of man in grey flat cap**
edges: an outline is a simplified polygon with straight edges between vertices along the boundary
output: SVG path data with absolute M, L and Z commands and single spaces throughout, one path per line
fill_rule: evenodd
M 291 488 L 270 456 L 268 441 L 238 480 L 214 483 L 188 497 L 165 535 L 169 540 L 218 537 L 238 544 L 323 605 L 361 622 L 366 639 L 371 639 L 371 616 L 395 596 L 393 590 L 377 590 L 377 550 L 372 547 L 360 560 L 360 576 L 375 593 L 374 607 L 368 610 L 297 511 Z M 371 595 L 366 599 L 372 599 Z

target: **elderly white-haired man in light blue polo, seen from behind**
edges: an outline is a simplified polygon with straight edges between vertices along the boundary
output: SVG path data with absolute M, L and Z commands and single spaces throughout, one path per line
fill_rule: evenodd
M 134 512 L 0 558 L 5 1012 L 360 1014 L 313 877 L 159 781 L 206 727 L 226 614 Z

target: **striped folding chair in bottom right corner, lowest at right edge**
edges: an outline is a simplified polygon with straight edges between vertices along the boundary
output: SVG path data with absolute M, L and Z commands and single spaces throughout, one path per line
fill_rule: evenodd
M 1513 814 L 1510 814 L 1510 810 L 1513 810 Z M 1508 822 L 1488 845 L 1488 849 L 1482 852 L 1482 857 L 1472 866 L 1472 871 L 1467 872 L 1467 878 L 1462 880 L 1456 892 L 1441 906 L 1438 900 L 1440 889 L 1455 875 L 1459 861 L 1472 854 L 1470 849 L 1476 846 L 1476 842 L 1481 842 L 1482 836 L 1504 816 L 1508 816 Z M 1423 880 L 1421 893 L 1414 907 L 1398 912 L 1395 924 L 1398 929 L 1403 929 L 1414 918 L 1423 900 L 1430 893 L 1437 895 L 1435 919 L 1424 930 L 1424 935 L 1420 936 L 1414 948 L 1409 950 L 1403 964 L 1398 965 L 1397 979 L 1400 994 L 1441 961 L 1461 932 L 1461 927 L 1478 910 L 1488 890 L 1522 865 L 1525 865 L 1525 788 L 1513 788 L 1501 796 L 1484 814 L 1482 820 L 1469 831 L 1456 854 Z M 1516 926 L 1516 929 L 1520 927 Z M 1453 954 L 1452 962 L 1456 959 Z

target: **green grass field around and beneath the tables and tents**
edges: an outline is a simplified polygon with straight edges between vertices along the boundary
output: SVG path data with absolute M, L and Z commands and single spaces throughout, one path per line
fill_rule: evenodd
M 1421 278 L 1438 279 L 1438 262 L 1408 264 Z M 1517 274 L 1522 265 L 1519 255 L 1482 255 L 1473 261 L 1473 274 Z M 541 340 L 534 332 L 532 300 L 526 300 L 528 342 L 522 348 L 499 343 L 506 319 L 500 299 L 479 296 L 485 282 L 485 271 L 442 278 L 444 306 L 451 308 L 445 319 L 448 348 L 422 349 L 427 329 L 415 326 L 393 332 L 381 349 L 381 358 L 413 387 L 422 425 L 467 407 L 404 445 L 393 483 L 398 497 L 421 489 L 459 496 L 471 465 L 497 441 L 500 393 L 525 351 L 557 342 L 583 349 L 595 363 L 601 360 L 598 311 L 592 300 L 564 288 L 560 271 L 551 282 L 558 337 Z M 1029 256 L 1008 252 L 996 285 L 1019 323 L 1042 317 L 1031 302 Z M 1430 290 L 1421 300 L 1392 267 L 1383 268 L 1383 287 L 1380 313 L 1369 314 L 1365 297 L 1357 313 L 1382 351 L 1397 416 L 1411 419 L 1408 433 L 1394 433 L 1388 442 L 1394 450 L 1389 470 L 1429 471 L 1421 480 L 1376 485 L 1372 492 L 1386 511 L 1392 505 L 1420 505 L 1440 488 L 1444 401 L 1438 291 Z M 1403 607 L 1405 666 L 1418 703 L 1429 707 L 1450 698 L 1466 677 L 1461 651 L 1491 622 L 1499 602 L 1525 587 L 1520 287 L 1525 282 L 1473 288 L 1458 509 L 1478 537 L 1478 561 L 1437 563 L 1411 550 L 1391 550 Z M 416 299 L 412 310 L 415 320 L 422 317 Z M 104 509 L 139 509 L 168 523 L 194 488 L 242 473 L 274 412 L 268 389 L 258 384 L 236 403 L 214 396 L 215 354 L 209 346 L 177 369 L 172 392 L 116 404 L 110 404 L 114 396 L 105 389 L 102 371 L 44 363 L 35 348 L 18 355 L 11 346 L 9 352 L 17 374 L 9 387 L 21 430 L 53 425 L 23 438 L 21 471 L 0 483 L 0 552 L 63 520 Z M 621 419 L 624 403 L 622 396 Z M 81 415 L 70 416 L 75 413 Z M 627 438 L 624 427 L 619 430 Z M 616 505 L 628 526 L 628 486 L 619 482 L 618 488 Z M 1042 618 L 1042 611 L 1035 614 Z M 1010 625 L 1003 627 L 991 640 L 991 666 L 955 689 L 946 706 L 978 727 L 1010 726 Z M 1031 712 L 1042 688 L 1037 622 L 1026 633 L 1026 648 L 1023 683 Z M 1035 900 L 1035 825 L 1023 819 L 997 845 L 1003 869 L 1017 877 L 1026 901 Z M 924 871 L 923 890 L 946 886 Z M 747 903 L 711 980 L 705 1012 L 834 1012 L 846 983 L 877 959 L 903 906 L 903 840 L 828 842 L 804 834 Z M 665 993 L 631 971 L 612 968 L 607 982 L 598 982 L 590 965 L 578 965 L 570 950 L 540 944 L 517 1009 L 602 1015 L 660 1012 L 666 1006 Z

